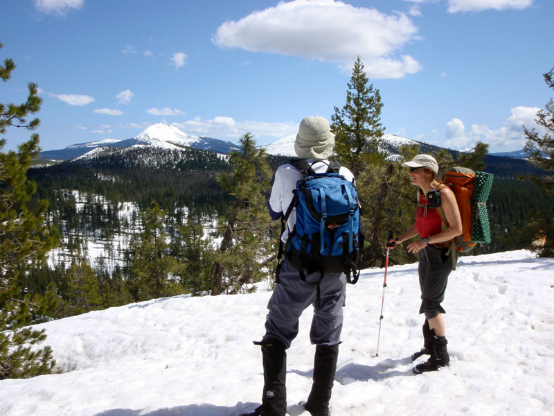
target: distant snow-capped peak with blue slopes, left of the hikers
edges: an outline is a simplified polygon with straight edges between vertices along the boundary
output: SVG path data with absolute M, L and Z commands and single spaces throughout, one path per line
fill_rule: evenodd
M 107 139 L 72 144 L 64 149 L 45 150 L 41 152 L 40 157 L 41 159 L 71 160 L 81 157 L 96 148 L 129 148 L 132 146 L 152 146 L 167 149 L 191 147 L 224 154 L 231 153 L 232 150 L 238 150 L 238 146 L 231 141 L 187 135 L 164 120 L 161 123 L 150 125 L 150 127 L 143 130 L 138 136 L 132 137 L 132 139 Z

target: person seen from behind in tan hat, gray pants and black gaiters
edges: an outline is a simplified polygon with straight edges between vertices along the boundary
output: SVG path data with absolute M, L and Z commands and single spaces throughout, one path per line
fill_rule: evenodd
M 334 148 L 334 135 L 329 122 L 323 117 L 309 116 L 298 128 L 294 149 L 296 155 L 306 159 L 316 173 L 327 171 L 328 157 Z M 352 181 L 352 173 L 344 167 L 339 174 Z M 292 164 L 279 166 L 269 197 L 269 214 L 277 220 L 285 216 L 294 196 L 296 182 L 302 175 Z M 292 210 L 281 241 L 287 242 L 296 224 Z M 298 334 L 298 318 L 310 304 L 316 302 L 316 285 L 321 274 L 308 273 L 303 281 L 300 272 L 287 259 L 280 264 L 278 284 L 267 304 L 269 313 L 265 322 L 265 335 L 258 345 L 262 347 L 264 388 L 262 406 L 249 416 L 285 416 L 287 396 L 285 387 L 286 350 Z M 343 272 L 325 272 L 321 278 L 319 307 L 314 308 L 310 340 L 316 345 L 312 391 L 304 406 L 312 416 L 329 415 L 331 389 L 337 368 L 339 343 L 343 322 L 343 306 L 346 295 L 346 275 Z

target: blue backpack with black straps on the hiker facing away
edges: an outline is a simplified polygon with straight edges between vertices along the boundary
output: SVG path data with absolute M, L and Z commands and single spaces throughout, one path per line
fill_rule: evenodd
M 296 183 L 294 197 L 283 217 L 283 229 L 292 209 L 296 209 L 296 225 L 284 248 L 285 259 L 300 272 L 345 272 L 347 281 L 355 284 L 364 232 L 359 218 L 359 202 L 355 185 L 339 174 L 339 162 L 330 162 L 325 173 L 315 173 L 305 159 L 292 159 L 290 164 L 302 175 Z M 283 254 L 283 243 L 278 258 Z

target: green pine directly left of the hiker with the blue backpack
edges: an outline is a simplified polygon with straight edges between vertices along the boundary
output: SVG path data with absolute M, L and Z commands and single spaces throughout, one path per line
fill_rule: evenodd
M 223 237 L 212 268 L 212 295 L 237 293 L 245 284 L 260 281 L 276 257 L 266 205 L 271 171 L 265 150 L 256 148 L 247 133 L 230 162 L 233 171 L 217 177 L 233 201 L 229 215 L 220 223 Z

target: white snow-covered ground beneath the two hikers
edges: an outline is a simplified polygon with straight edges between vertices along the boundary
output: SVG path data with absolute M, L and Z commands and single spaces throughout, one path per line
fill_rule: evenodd
M 415 375 L 422 346 L 417 265 L 348 286 L 334 416 L 552 415 L 554 259 L 525 250 L 463 257 L 443 304 L 451 365 Z M 271 293 L 172 297 L 39 325 L 61 374 L 0 381 L 0 415 L 236 416 L 258 406 Z M 310 390 L 312 311 L 288 351 L 288 415 Z

